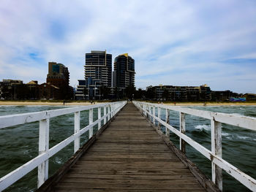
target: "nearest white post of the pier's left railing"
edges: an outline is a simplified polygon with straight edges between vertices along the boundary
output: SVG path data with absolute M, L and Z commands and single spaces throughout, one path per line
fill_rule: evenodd
M 39 155 L 49 150 L 49 124 L 50 120 L 39 120 Z M 37 188 L 39 188 L 45 180 L 48 180 L 49 162 L 46 160 L 38 166 Z

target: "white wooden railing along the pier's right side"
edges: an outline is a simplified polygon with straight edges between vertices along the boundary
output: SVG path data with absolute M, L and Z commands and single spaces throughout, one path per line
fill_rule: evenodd
M 186 142 L 203 154 L 211 161 L 212 181 L 222 191 L 222 169 L 232 177 L 236 178 L 240 183 L 245 185 L 252 191 L 256 191 L 256 180 L 249 175 L 241 172 L 235 166 L 229 164 L 222 158 L 222 123 L 232 126 L 248 128 L 256 131 L 256 118 L 250 118 L 242 115 L 228 115 L 220 112 L 208 112 L 203 110 L 194 110 L 185 107 L 174 107 L 163 104 L 151 104 L 147 102 L 133 101 L 136 107 L 147 116 L 155 125 L 157 120 L 158 126 L 165 126 L 165 133 L 170 137 L 170 131 L 180 138 L 180 150 L 185 153 Z M 156 107 L 158 110 L 156 116 Z M 161 109 L 165 110 L 165 121 L 160 118 Z M 180 130 L 178 131 L 169 124 L 170 110 L 180 113 Z M 195 115 L 200 118 L 211 120 L 211 150 L 206 149 L 185 134 L 185 114 Z

